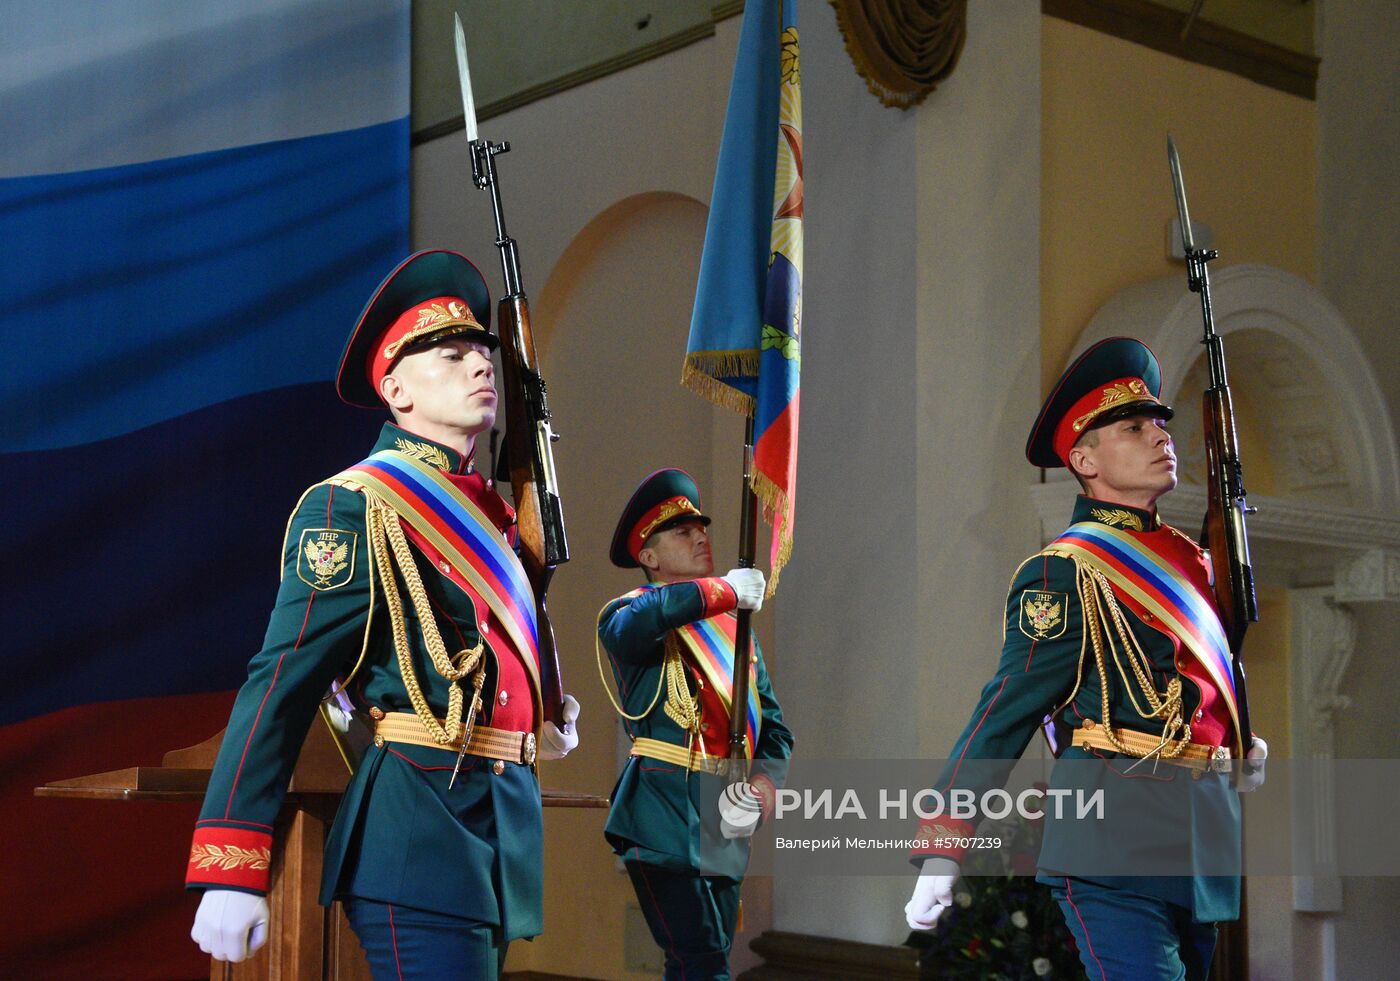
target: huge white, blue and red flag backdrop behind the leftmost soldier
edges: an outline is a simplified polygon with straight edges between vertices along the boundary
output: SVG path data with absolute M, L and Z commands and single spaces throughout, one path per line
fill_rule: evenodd
M 407 253 L 407 0 L 0 7 L 0 964 L 207 973 L 197 805 L 35 799 L 217 732 L 332 375 Z

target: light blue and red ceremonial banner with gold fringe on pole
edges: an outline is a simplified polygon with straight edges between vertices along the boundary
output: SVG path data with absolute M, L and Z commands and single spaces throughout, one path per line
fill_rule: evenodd
M 682 383 L 753 417 L 773 525 L 769 593 L 792 551 L 802 336 L 802 95 L 795 0 L 749 0 L 715 167 Z

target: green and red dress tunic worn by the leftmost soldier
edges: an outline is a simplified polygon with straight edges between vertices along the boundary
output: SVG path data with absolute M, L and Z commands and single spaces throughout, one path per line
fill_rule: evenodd
M 374 449 L 399 449 L 433 463 L 503 533 L 510 530 L 510 507 L 456 451 L 392 424 Z M 410 536 L 448 651 L 484 640 L 479 724 L 535 731 L 539 697 L 521 654 L 498 624 L 493 628 L 482 598 L 424 549 Z M 287 781 L 336 679 L 353 675 L 349 696 L 361 712 L 414 711 L 371 553 L 363 494 L 333 483 L 307 491 L 287 526 L 281 586 L 263 649 L 249 662 L 196 826 L 190 887 L 267 890 L 272 833 Z M 433 666 L 398 567 L 395 579 L 412 673 L 442 719 L 449 683 Z M 500 928 L 507 940 L 540 932 L 542 823 L 533 768 L 505 763 L 497 774 L 491 760 L 468 756 L 448 789 L 455 758 L 454 750 L 430 746 L 368 747 L 326 841 L 322 904 L 344 896 L 402 904 Z

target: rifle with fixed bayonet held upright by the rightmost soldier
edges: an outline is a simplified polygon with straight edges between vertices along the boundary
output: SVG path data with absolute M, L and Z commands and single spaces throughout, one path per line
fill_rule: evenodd
M 1200 294 L 1201 319 L 1210 364 L 1210 388 L 1205 389 L 1203 421 L 1205 428 L 1205 472 L 1207 504 L 1201 544 L 1210 550 L 1211 568 L 1215 572 L 1215 602 L 1219 607 L 1221 624 L 1229 641 L 1231 666 L 1235 682 L 1235 701 L 1239 707 L 1239 728 L 1249 750 L 1249 700 L 1245 694 L 1245 665 L 1240 648 L 1245 631 L 1259 620 L 1259 600 L 1254 596 L 1254 571 L 1249 564 L 1249 536 L 1245 530 L 1245 515 L 1254 514 L 1245 498 L 1245 473 L 1239 462 L 1239 437 L 1235 428 L 1235 406 L 1229 395 L 1225 375 L 1225 344 L 1215 332 L 1215 316 L 1211 312 L 1211 280 L 1205 264 L 1219 253 L 1215 249 L 1196 248 L 1191 235 L 1191 217 L 1186 207 L 1186 186 L 1182 182 L 1182 161 L 1176 155 L 1176 143 L 1166 137 L 1166 157 L 1172 168 L 1172 185 L 1176 192 L 1176 213 L 1182 223 L 1182 250 L 1186 255 L 1186 284 L 1191 292 Z

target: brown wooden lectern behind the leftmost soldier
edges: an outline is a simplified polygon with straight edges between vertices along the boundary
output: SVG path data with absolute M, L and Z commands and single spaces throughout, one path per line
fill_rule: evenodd
M 41 798 L 90 800 L 203 800 L 224 733 L 171 750 L 158 767 L 127 767 L 35 788 Z M 344 911 L 316 903 L 322 849 L 350 774 L 326 726 L 316 722 L 301 747 L 287 800 L 273 831 L 272 933 L 267 946 L 241 964 L 210 961 L 211 981 L 370 981 L 360 943 Z M 546 807 L 606 807 L 594 793 L 543 791 Z

